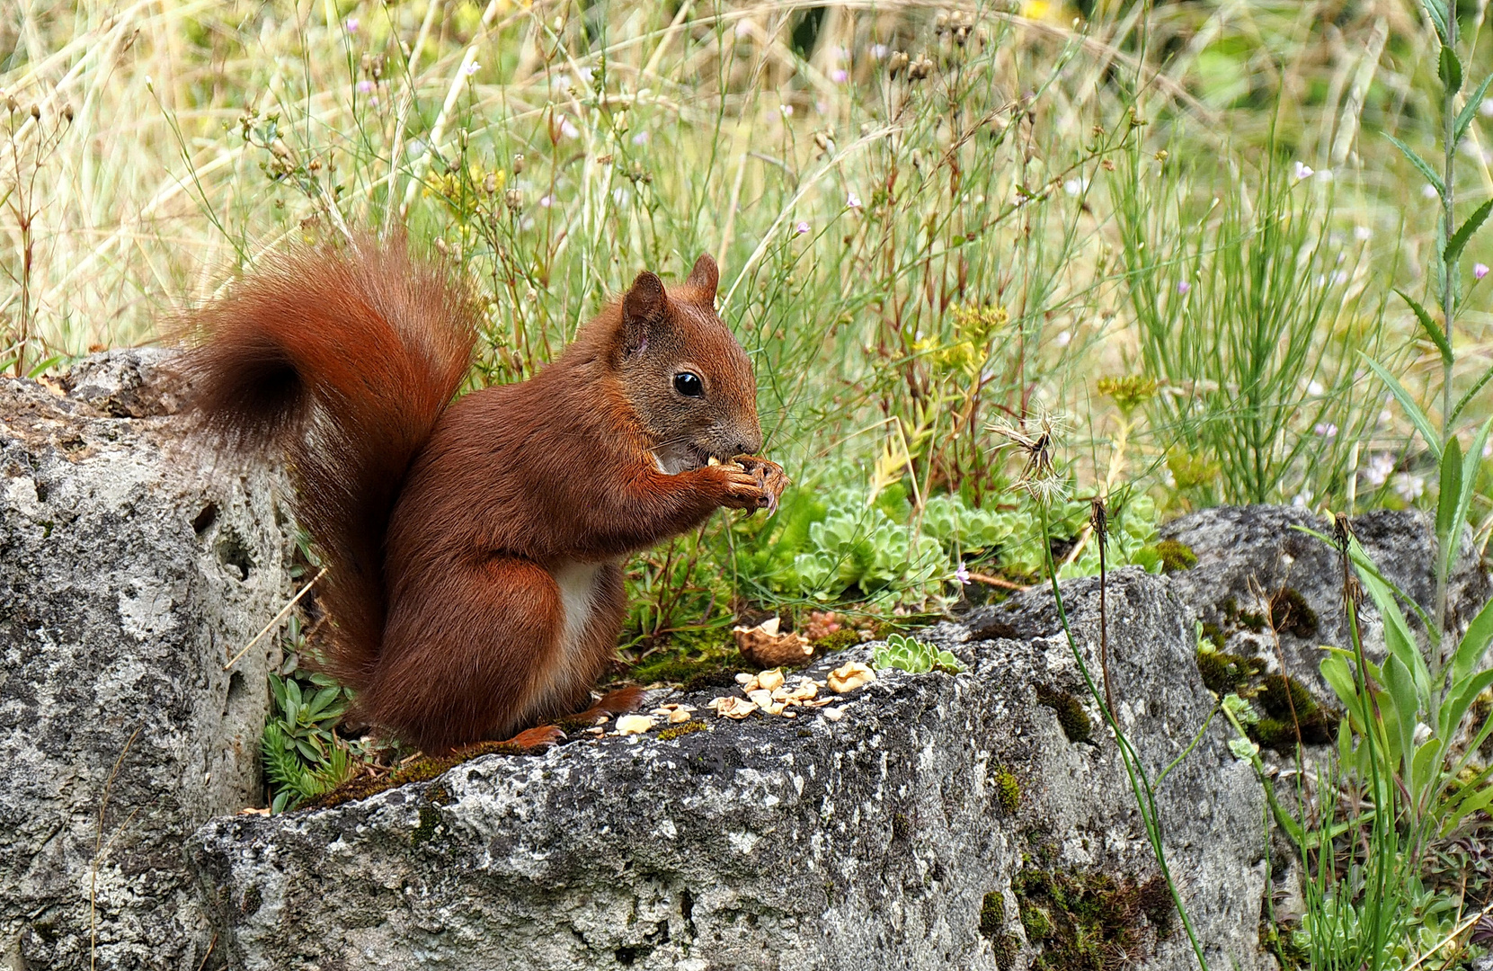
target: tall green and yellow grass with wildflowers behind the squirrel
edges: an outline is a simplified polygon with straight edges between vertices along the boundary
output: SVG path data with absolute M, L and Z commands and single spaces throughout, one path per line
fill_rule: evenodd
M 1493 57 L 1463 12 L 1471 90 Z M 149 344 L 266 251 L 408 227 L 488 293 L 476 387 L 711 252 L 797 484 L 629 565 L 648 669 L 720 657 L 742 609 L 918 615 L 987 596 L 964 571 L 1097 572 L 1096 496 L 1111 568 L 1160 571 L 1156 524 L 1191 508 L 1433 509 L 1442 483 L 1481 550 L 1493 471 L 1438 454 L 1489 414 L 1487 291 L 1438 269 L 1447 214 L 1386 137 L 1438 158 L 1438 51 L 1409 0 L 36 3 L 0 18 L 0 367 Z M 1493 197 L 1490 125 L 1453 221 Z M 1450 360 L 1396 288 L 1454 305 Z M 1329 787 L 1366 790 L 1350 769 Z M 1317 928 L 1368 905 L 1326 893 L 1332 862 Z M 1414 928 L 1377 926 L 1423 953 L 1454 890 L 1391 862 L 1374 899 Z M 1311 967 L 1359 947 L 1333 934 Z

